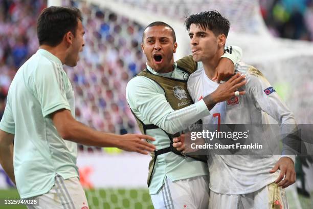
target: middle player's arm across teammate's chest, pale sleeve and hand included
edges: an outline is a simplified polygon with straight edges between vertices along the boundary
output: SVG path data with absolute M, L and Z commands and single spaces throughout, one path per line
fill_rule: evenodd
M 210 114 L 217 102 L 225 101 L 245 84 L 243 77 L 236 74 L 227 82 L 219 85 L 216 91 L 202 100 L 173 110 L 166 100 L 164 91 L 149 78 L 138 76 L 131 79 L 126 87 L 126 97 L 130 108 L 139 119 L 146 119 L 170 134 L 184 130 L 190 124 Z M 240 92 L 244 94 L 244 92 Z

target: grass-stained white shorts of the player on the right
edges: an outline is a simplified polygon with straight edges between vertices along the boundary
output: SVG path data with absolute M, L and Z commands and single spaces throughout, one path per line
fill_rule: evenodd
M 209 209 L 287 209 L 286 192 L 276 183 L 264 186 L 262 189 L 244 195 L 226 195 L 211 191 Z

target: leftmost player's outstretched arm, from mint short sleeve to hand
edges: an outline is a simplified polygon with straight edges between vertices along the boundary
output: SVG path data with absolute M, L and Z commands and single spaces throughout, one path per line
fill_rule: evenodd
M 98 147 L 117 147 L 126 151 L 148 154 L 147 151 L 154 151 L 154 145 L 142 139 L 154 140 L 150 136 L 138 134 L 116 135 L 96 131 L 74 118 L 74 107 L 71 107 L 68 93 L 70 81 L 63 75 L 60 78 L 55 65 L 46 64 L 45 70 L 35 74 L 30 79 L 30 86 L 33 88 L 34 96 L 41 106 L 43 117 L 52 118 L 59 135 L 65 139 Z M 61 66 L 59 66 L 61 68 Z

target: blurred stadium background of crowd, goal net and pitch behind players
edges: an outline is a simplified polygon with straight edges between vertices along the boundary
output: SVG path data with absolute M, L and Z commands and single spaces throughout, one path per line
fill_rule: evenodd
M 138 132 L 125 87 L 145 67 L 140 47 L 143 28 L 155 20 L 171 25 L 177 35 L 177 59 L 190 50 L 184 16 L 208 9 L 229 18 L 227 44 L 242 48 L 243 61 L 265 74 L 298 123 L 313 123 L 311 0 L 0 0 L 0 118 L 11 80 L 38 48 L 36 19 L 47 5 L 75 6 L 83 13 L 84 51 L 75 68 L 64 69 L 75 91 L 77 119 L 97 130 Z M 80 179 L 90 208 L 153 208 L 146 186 L 149 156 L 82 145 L 79 150 Z M 313 208 L 312 165 L 306 168 L 300 162 L 298 179 L 306 174 L 305 189 L 297 180 L 287 197 L 291 208 Z M 310 198 L 305 197 L 306 191 Z M 0 167 L 3 198 L 18 198 L 18 194 Z

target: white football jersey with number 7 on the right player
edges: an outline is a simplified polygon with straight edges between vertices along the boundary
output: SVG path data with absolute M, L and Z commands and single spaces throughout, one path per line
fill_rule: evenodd
M 190 75 L 187 87 L 194 102 L 217 89 L 218 83 L 210 80 L 202 65 Z M 235 96 L 217 103 L 203 124 L 264 124 L 267 114 L 281 124 L 296 124 L 294 115 L 279 98 L 274 88 L 253 67 L 239 62 L 236 72 L 246 75 L 246 85 L 239 89 L 245 95 Z M 270 133 L 260 130 L 257 140 L 269 138 Z M 269 149 L 269 148 L 264 148 Z M 270 174 L 280 155 L 211 155 L 208 157 L 210 189 L 221 194 L 247 194 L 274 182 L 279 173 Z

